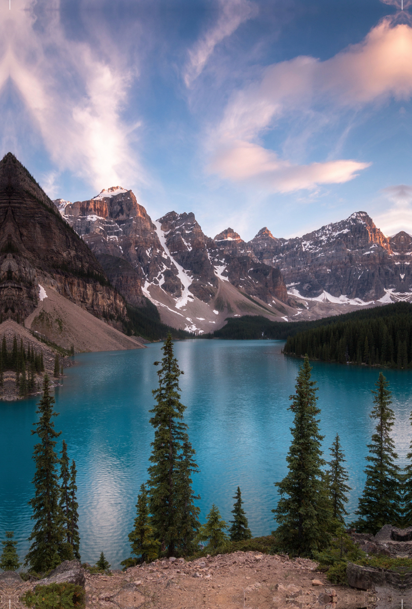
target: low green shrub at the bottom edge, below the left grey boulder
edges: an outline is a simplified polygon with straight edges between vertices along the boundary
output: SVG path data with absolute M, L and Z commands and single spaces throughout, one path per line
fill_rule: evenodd
M 84 588 L 75 583 L 50 583 L 27 591 L 21 601 L 35 609 L 83 609 L 84 595 Z

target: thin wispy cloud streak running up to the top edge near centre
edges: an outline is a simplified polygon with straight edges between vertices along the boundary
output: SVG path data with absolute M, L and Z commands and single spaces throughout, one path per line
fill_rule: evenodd
M 232 35 L 244 21 L 256 15 L 256 5 L 249 0 L 219 0 L 219 4 L 216 24 L 207 30 L 189 51 L 189 60 L 184 69 L 184 81 L 188 88 L 204 70 L 216 44 Z

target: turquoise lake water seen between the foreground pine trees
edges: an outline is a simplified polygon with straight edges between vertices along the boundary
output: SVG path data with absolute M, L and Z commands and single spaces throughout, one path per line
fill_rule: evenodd
M 185 375 L 180 377 L 185 421 L 201 473 L 194 490 L 201 495 L 201 521 L 214 502 L 228 521 L 239 485 L 253 535 L 276 526 L 273 485 L 287 473 L 292 414 L 289 395 L 301 361 L 284 357 L 277 340 L 188 340 L 175 343 Z M 128 533 L 135 516 L 140 484 L 153 440 L 148 423 L 157 384 L 153 362 L 162 343 L 136 351 L 86 353 L 66 368 L 63 387 L 55 394 L 55 426 L 62 431 L 70 459 L 78 470 L 81 558 L 95 563 L 101 550 L 112 568 L 130 555 Z M 379 370 L 314 362 L 318 382 L 324 448 L 336 432 L 346 452 L 352 487 L 349 509 L 365 481 L 366 444 L 373 431 L 369 418 L 371 389 Z M 393 391 L 394 438 L 400 459 L 412 438 L 412 373 L 384 370 Z M 38 398 L 0 403 L 0 537 L 14 530 L 21 557 L 32 530 L 27 501 L 33 495 L 34 467 L 30 435 Z M 59 443 L 60 449 L 61 442 Z M 329 454 L 327 453 L 329 457 Z

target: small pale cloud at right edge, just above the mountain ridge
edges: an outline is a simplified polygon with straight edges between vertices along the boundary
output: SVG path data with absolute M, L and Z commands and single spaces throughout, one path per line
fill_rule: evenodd
M 400 184 L 382 190 L 391 205 L 374 217 L 374 222 L 387 236 L 403 230 L 412 234 L 412 186 Z

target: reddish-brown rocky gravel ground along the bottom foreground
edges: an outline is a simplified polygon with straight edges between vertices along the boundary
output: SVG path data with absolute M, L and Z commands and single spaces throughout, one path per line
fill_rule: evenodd
M 77 561 L 76 561 L 77 562 Z M 71 564 L 73 564 L 72 561 Z M 91 575 L 78 567 L 73 581 L 86 590 L 86 607 L 103 609 L 330 609 L 373 608 L 375 598 L 331 586 L 306 558 L 235 552 L 194 561 L 157 560 L 126 572 Z M 62 577 L 63 574 L 57 577 Z M 0 577 L 2 609 L 23 609 L 19 598 L 37 583 Z

